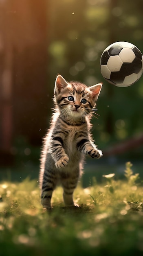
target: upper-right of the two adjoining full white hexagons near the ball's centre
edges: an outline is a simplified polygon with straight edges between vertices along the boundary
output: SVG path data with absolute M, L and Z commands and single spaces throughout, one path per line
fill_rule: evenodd
M 136 58 L 136 55 L 132 51 L 132 49 L 129 48 L 123 48 L 121 52 L 119 53 L 119 57 L 121 60 L 125 63 L 132 63 L 134 58 Z

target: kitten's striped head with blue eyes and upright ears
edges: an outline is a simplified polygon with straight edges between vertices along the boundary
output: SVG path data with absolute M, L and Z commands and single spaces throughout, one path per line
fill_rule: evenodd
M 101 91 L 102 83 L 87 87 L 79 82 L 66 82 L 58 75 L 55 81 L 55 103 L 61 115 L 73 119 L 84 119 L 92 112 Z

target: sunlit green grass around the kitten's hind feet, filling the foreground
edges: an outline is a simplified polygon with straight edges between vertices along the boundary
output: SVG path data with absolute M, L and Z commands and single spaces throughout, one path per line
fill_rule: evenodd
M 0 183 L 1 256 L 98 256 L 143 254 L 143 188 L 126 164 L 126 180 L 103 175 L 104 182 L 75 190 L 80 207 L 66 208 L 62 189 L 53 210 L 40 205 L 37 181 Z

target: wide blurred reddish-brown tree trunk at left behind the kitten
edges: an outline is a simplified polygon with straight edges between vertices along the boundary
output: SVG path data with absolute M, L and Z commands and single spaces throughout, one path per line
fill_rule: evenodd
M 22 135 L 40 143 L 46 129 L 47 1 L 0 2 L 0 151 Z

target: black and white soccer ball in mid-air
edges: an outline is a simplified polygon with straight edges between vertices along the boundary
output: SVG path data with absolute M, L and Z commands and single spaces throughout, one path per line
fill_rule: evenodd
M 113 85 L 126 87 L 139 80 L 143 73 L 143 55 L 128 42 L 109 45 L 100 59 L 102 76 Z

